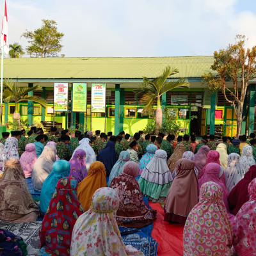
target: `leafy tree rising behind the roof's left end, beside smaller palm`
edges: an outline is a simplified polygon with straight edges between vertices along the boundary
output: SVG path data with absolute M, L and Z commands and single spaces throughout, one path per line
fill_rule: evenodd
M 22 34 L 29 39 L 29 46 L 26 47 L 30 56 L 36 57 L 54 57 L 61 52 L 63 45 L 60 44 L 64 34 L 58 32 L 57 23 L 54 20 L 42 20 L 41 28 L 34 31 L 26 30 Z

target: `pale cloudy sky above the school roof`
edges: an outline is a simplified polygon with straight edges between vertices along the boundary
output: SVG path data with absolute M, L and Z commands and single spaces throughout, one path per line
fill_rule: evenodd
M 6 1 L 9 44 L 25 49 L 22 33 L 52 19 L 66 57 L 211 56 L 237 34 L 256 45 L 256 0 Z

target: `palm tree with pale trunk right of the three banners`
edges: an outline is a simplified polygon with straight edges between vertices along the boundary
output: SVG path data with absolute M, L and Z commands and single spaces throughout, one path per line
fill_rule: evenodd
M 136 99 L 138 99 L 139 95 L 141 97 L 141 103 L 145 104 L 143 109 L 144 113 L 149 113 L 152 111 L 153 102 L 157 100 L 156 107 L 156 134 L 158 134 L 159 129 L 162 126 L 163 121 L 163 111 L 161 108 L 160 97 L 163 93 L 166 93 L 170 90 L 178 88 L 180 86 L 189 87 L 190 84 L 186 79 L 180 78 L 178 81 L 166 81 L 169 76 L 179 73 L 177 68 L 172 68 L 170 66 L 166 67 L 161 76 L 157 76 L 156 78 L 150 80 L 147 77 L 143 77 L 143 83 L 140 84 L 139 88 L 134 90 Z

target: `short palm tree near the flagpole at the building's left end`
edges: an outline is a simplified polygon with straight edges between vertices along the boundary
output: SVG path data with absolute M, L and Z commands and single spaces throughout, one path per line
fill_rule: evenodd
M 15 102 L 15 111 L 13 113 L 13 120 L 17 119 L 20 125 L 20 113 L 19 113 L 19 102 L 31 100 L 37 102 L 44 108 L 47 106 L 47 100 L 38 96 L 29 96 L 29 92 L 40 92 L 42 87 L 40 85 L 35 85 L 33 87 L 20 87 L 17 83 L 14 83 L 12 79 L 7 79 L 4 81 L 4 92 L 3 99 L 4 102 Z

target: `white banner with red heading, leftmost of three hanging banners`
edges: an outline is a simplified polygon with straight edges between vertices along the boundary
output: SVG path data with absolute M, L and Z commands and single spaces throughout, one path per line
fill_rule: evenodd
M 54 111 L 68 111 L 68 83 L 54 83 Z

